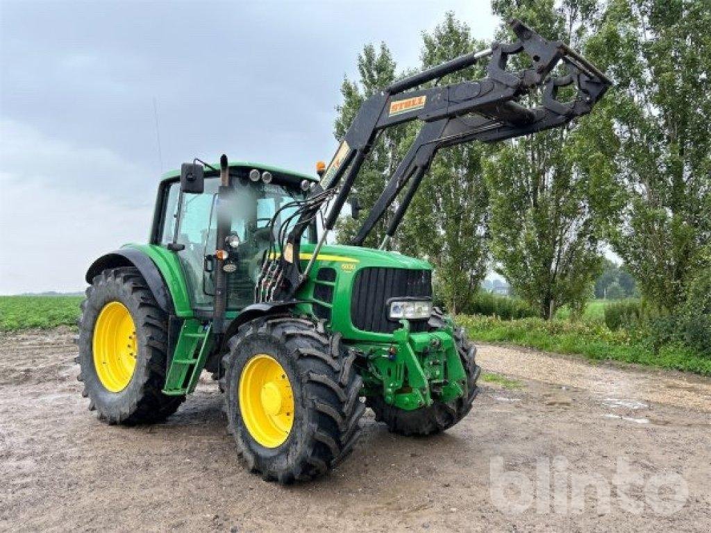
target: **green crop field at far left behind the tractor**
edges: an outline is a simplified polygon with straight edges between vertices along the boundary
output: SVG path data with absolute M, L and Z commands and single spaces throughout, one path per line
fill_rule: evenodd
M 0 296 L 0 330 L 76 326 L 81 296 Z

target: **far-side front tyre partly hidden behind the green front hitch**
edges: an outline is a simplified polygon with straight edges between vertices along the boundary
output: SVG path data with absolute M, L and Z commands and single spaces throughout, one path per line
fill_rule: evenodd
M 444 314 L 435 308 L 429 320 L 429 330 L 442 329 L 445 325 Z M 368 397 L 366 404 L 375 412 L 375 420 L 384 422 L 387 429 L 395 434 L 425 436 L 445 431 L 469 414 L 471 404 L 479 394 L 476 380 L 479 379 L 481 369 L 476 365 L 476 346 L 466 339 L 463 328 L 454 330 L 454 343 L 466 372 L 464 397 L 449 403 L 435 400 L 432 405 L 414 411 L 386 404 L 382 396 Z

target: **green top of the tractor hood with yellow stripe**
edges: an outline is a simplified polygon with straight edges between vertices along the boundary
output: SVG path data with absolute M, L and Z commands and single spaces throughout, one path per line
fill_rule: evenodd
M 301 244 L 299 259 L 301 261 L 311 258 L 314 252 L 314 244 Z M 420 269 L 432 270 L 432 265 L 423 259 L 408 257 L 398 252 L 387 252 L 375 248 L 364 248 L 359 246 L 346 246 L 345 244 L 333 244 L 321 247 L 319 262 L 342 262 L 352 263 L 357 267 L 362 266 L 385 266 L 395 269 Z

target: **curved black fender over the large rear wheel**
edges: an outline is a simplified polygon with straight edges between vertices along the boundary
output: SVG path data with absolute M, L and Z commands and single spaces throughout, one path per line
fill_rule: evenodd
M 161 276 L 161 272 L 153 262 L 153 259 L 139 249 L 122 248 L 102 255 L 102 257 L 93 262 L 89 267 L 85 279 L 88 284 L 91 284 L 94 277 L 101 274 L 103 270 L 113 269 L 119 266 L 136 267 L 141 273 L 141 276 L 143 276 L 143 279 L 146 280 L 146 284 L 148 284 L 149 289 L 151 289 L 151 293 L 153 293 L 160 308 L 168 314 L 175 313 L 173 298 L 171 297 L 171 293 L 168 290 L 163 276 Z

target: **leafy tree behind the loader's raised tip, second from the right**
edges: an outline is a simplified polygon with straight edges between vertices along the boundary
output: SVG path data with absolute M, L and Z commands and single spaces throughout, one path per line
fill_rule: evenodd
M 492 6 L 503 19 L 520 18 L 574 48 L 599 14 L 592 0 L 567 0 L 559 9 L 552 0 L 494 0 Z M 602 266 L 599 243 L 619 209 L 606 161 L 615 142 L 609 121 L 592 114 L 515 139 L 485 165 L 498 272 L 543 318 L 566 303 L 582 308 L 592 293 Z

